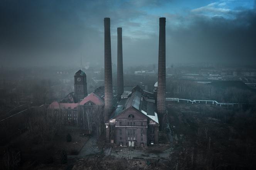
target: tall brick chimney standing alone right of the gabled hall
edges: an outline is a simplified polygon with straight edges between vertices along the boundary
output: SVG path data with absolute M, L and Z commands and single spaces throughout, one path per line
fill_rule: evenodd
M 165 18 L 159 18 L 159 48 L 158 48 L 158 86 L 157 86 L 157 113 L 166 112 L 166 80 L 165 80 Z

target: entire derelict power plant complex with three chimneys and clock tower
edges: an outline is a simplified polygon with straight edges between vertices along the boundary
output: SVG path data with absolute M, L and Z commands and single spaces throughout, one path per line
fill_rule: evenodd
M 48 110 L 64 110 L 68 125 L 88 130 L 105 125 L 106 142 L 129 147 L 158 144 L 158 132 L 165 104 L 165 18 L 159 20 L 158 85 L 151 93 L 140 86 L 124 91 L 122 28 L 118 28 L 117 93 L 113 94 L 110 18 L 104 18 L 104 87 L 87 95 L 86 74 L 74 75 L 75 92 L 61 102 L 52 102 Z M 91 122 L 91 123 L 88 123 Z

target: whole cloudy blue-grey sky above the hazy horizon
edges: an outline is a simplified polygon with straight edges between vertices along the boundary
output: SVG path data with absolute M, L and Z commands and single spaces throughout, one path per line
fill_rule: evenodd
M 1 0 L 4 65 L 104 65 L 104 17 L 112 61 L 123 28 L 124 66 L 157 63 L 166 17 L 167 63 L 256 63 L 255 0 Z

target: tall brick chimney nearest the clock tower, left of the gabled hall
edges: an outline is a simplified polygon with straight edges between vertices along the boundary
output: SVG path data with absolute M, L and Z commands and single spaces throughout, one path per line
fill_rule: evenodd
M 112 84 L 112 64 L 111 64 L 111 41 L 110 41 L 110 18 L 104 18 L 104 107 L 106 110 L 106 120 L 113 110 L 113 84 Z

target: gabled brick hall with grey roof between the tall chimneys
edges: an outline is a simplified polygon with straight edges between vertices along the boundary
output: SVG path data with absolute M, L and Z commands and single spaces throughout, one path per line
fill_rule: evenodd
M 129 147 L 158 144 L 154 94 L 136 86 L 126 95 L 105 123 L 106 142 Z

